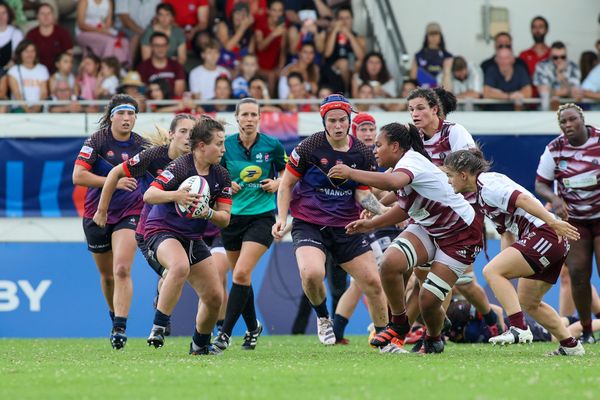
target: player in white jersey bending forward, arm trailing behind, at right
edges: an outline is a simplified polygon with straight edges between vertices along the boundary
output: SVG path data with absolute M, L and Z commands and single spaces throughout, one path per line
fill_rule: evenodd
M 523 309 L 552 333 L 560 347 L 553 355 L 583 355 L 558 313 L 542 301 L 556 283 L 569 252 L 564 238 L 577 240 L 577 229 L 560 221 L 526 189 L 506 175 L 487 172 L 489 163 L 480 150 L 451 153 L 444 167 L 457 193 L 476 193 L 477 211 L 496 225 L 499 233 L 512 232 L 517 241 L 503 249 L 483 269 L 483 275 L 506 310 L 510 329 L 490 338 L 493 344 L 531 343 L 533 334 Z M 564 238 L 563 238 L 564 237 Z M 518 294 L 511 279 L 519 279 Z

